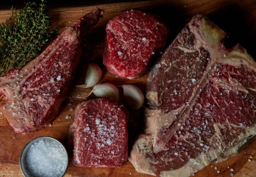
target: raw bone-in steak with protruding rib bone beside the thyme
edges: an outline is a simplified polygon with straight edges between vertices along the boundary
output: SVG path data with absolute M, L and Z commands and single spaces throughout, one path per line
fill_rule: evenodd
M 25 67 L 0 78 L 0 98 L 7 97 L 2 111 L 15 132 L 29 134 L 56 118 L 80 61 L 81 35 L 97 24 L 103 12 L 94 8 Z

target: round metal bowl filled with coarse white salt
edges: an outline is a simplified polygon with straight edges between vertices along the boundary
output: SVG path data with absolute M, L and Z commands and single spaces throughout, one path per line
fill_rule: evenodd
M 32 139 L 20 155 L 20 169 L 25 177 L 63 177 L 67 166 L 67 149 L 52 137 Z

